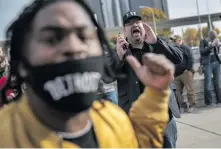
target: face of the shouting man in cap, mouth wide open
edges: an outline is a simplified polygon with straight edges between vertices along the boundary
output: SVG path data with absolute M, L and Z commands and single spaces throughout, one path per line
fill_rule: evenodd
M 131 43 L 142 43 L 144 41 L 145 30 L 142 20 L 138 18 L 131 18 L 125 23 L 124 27 L 125 36 Z

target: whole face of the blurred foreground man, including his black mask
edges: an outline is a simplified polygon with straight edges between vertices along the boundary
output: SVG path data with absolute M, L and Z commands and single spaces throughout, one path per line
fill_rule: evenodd
M 87 110 L 104 63 L 96 28 L 85 10 L 71 0 L 45 6 L 35 16 L 26 43 L 29 67 L 23 62 L 20 75 L 34 93 L 60 111 Z

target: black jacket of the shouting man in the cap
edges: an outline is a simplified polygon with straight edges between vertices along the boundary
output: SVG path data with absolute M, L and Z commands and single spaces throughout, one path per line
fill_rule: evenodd
M 133 54 L 138 60 L 141 60 L 141 56 L 144 53 L 153 52 L 165 55 L 174 64 L 179 64 L 182 61 L 182 52 L 179 48 L 171 46 L 159 38 L 157 39 L 157 43 L 154 45 L 145 43 L 142 49 L 134 49 L 131 46 L 129 49 L 130 51 L 127 51 L 125 55 Z M 118 58 L 117 54 L 116 57 Z M 142 88 L 144 88 L 144 86 L 139 83 L 139 79 L 135 72 L 125 61 L 125 56 L 122 61 L 118 58 L 118 62 L 112 65 L 112 67 L 116 70 L 116 72 L 126 74 L 125 78 L 118 79 L 117 81 L 119 106 L 128 113 L 132 103 L 143 92 Z

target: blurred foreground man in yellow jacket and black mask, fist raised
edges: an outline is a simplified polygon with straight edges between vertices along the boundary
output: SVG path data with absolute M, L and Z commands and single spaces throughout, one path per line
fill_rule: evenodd
M 96 29 L 95 29 L 96 28 Z M 161 148 L 174 65 L 145 54 L 126 61 L 145 87 L 129 116 L 97 97 L 114 59 L 103 30 L 82 0 L 35 0 L 9 26 L 10 74 L 27 85 L 0 111 L 2 148 Z M 110 72 L 113 72 L 111 70 Z M 110 73 L 111 74 L 111 73 Z M 7 84 L 11 83 L 7 81 Z M 6 85 L 7 86 L 7 85 Z M 122 127 L 123 126 L 123 127 Z

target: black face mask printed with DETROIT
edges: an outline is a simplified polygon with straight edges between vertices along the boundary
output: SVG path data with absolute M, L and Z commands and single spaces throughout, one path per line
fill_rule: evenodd
M 98 85 L 104 73 L 103 56 L 38 67 L 27 62 L 25 65 L 30 74 L 24 80 L 56 109 L 79 113 L 98 99 Z

